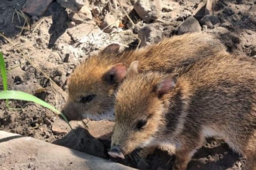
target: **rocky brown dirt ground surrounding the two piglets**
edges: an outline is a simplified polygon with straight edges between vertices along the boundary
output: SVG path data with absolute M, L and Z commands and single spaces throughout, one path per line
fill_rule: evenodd
M 122 1 L 123 8 L 136 24 L 131 28 L 131 23 L 124 12 L 121 10 L 118 14 L 111 12 L 113 7 L 109 6 L 108 0 L 90 0 L 91 11 L 95 7 L 99 7 L 102 11 L 97 18 L 94 17 L 95 20 L 104 23 L 109 12 L 117 16 L 124 26 L 122 28 L 119 23 L 116 29 L 109 27 L 110 31 L 106 31 L 95 20 L 86 18 L 86 21 L 80 22 L 81 19 L 75 17 L 72 19 L 69 11 L 55 1 L 49 5 L 38 21 L 32 20 L 31 16 L 27 15 L 30 22 L 27 25 L 24 24 L 25 19 L 16 12 L 22 10 L 26 0 L 1 0 L 0 33 L 8 40 L 0 36 L 0 51 L 5 56 L 7 70 L 10 70 L 8 71 L 9 89 L 34 94 L 61 110 L 67 96 L 67 78 L 76 65 L 113 42 L 119 42 L 129 48 L 137 47 L 138 34 L 143 34 L 139 33 L 138 29 L 140 30 L 145 22 L 134 11 L 132 5 L 134 1 Z M 200 14 L 200 10 L 195 14 L 198 6 L 204 1 L 164 0 L 163 2 L 170 2 L 172 8 L 163 8 L 157 20 L 146 23 L 153 30 L 148 39 L 150 43 L 177 34 L 179 26 L 192 14 L 197 20 L 201 20 L 204 16 Z M 227 51 L 230 53 L 256 58 L 255 0 L 219 0 L 213 8 L 212 15 L 217 16 L 218 23 L 214 24 L 213 28 L 201 25 L 202 32 L 214 34 L 227 46 Z M 30 26 L 29 30 L 26 28 L 22 30 L 23 25 Z M 49 81 L 41 71 L 52 81 Z M 0 90 L 3 90 L 1 80 Z M 67 133 L 61 128 L 58 129 L 58 120 L 58 116 L 52 111 L 31 102 L 12 101 L 10 108 L 6 108 L 5 102 L 0 101 L 0 130 L 52 142 Z M 92 135 L 90 138 L 94 137 Z M 110 141 L 99 139 L 99 142 L 104 146 L 103 154 L 106 154 L 110 148 Z M 136 152 L 125 160 L 113 161 L 143 170 L 167 170 L 171 169 L 174 160 L 173 151 L 162 147 L 144 161 L 136 158 Z M 193 156 L 188 170 L 241 170 L 243 164 L 243 157 L 230 150 L 227 144 L 221 140 L 207 139 L 204 147 Z

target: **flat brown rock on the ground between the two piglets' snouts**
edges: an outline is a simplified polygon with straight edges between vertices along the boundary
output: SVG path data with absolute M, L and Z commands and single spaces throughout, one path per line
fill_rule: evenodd
M 89 133 L 101 140 L 108 140 L 111 141 L 111 136 L 113 133 L 113 126 L 115 125 L 114 122 L 109 122 L 105 120 L 101 121 L 90 121 L 87 124 L 87 128 Z

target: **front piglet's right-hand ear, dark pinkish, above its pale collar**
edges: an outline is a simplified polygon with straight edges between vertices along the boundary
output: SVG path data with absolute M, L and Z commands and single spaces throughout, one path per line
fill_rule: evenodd
M 157 95 L 161 98 L 163 95 L 168 94 L 175 88 L 178 74 L 168 74 L 157 85 Z

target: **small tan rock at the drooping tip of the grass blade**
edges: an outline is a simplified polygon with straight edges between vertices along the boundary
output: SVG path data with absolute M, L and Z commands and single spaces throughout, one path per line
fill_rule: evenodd
M 56 121 L 52 124 L 52 132 L 55 135 L 63 135 L 68 133 L 70 130 L 69 125 L 64 120 L 56 119 Z

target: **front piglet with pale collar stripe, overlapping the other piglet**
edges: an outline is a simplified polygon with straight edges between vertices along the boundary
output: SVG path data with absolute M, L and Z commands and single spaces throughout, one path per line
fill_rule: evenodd
M 246 157 L 244 170 L 256 170 L 254 60 L 213 54 L 171 74 L 138 73 L 137 65 L 131 63 L 116 94 L 111 148 L 126 155 L 172 144 L 173 170 L 186 170 L 205 138 L 218 136 Z

